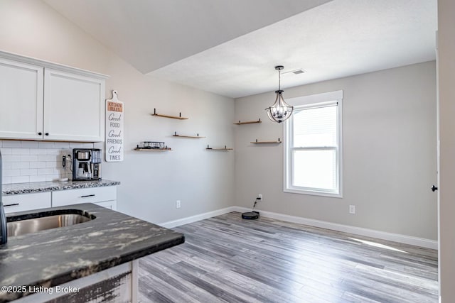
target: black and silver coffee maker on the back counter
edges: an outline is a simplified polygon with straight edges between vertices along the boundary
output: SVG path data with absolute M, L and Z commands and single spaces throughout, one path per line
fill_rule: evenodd
M 101 150 L 73 149 L 73 180 L 101 179 Z

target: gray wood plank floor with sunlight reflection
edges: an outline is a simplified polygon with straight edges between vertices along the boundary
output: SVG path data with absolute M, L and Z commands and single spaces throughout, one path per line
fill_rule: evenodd
M 438 302 L 437 251 L 240 213 L 174 228 L 139 262 L 140 302 Z

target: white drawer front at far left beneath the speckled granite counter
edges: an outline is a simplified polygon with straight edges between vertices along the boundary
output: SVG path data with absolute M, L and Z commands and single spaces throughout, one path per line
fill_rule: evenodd
M 32 209 L 45 209 L 50 207 L 50 192 L 36 194 L 13 194 L 4 196 L 3 204 L 6 214 Z

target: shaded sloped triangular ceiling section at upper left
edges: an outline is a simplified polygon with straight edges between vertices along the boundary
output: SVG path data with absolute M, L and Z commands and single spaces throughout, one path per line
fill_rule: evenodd
M 330 0 L 45 0 L 144 74 Z

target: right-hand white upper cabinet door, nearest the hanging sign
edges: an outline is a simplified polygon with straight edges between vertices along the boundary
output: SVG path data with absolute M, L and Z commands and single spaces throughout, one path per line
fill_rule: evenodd
M 44 140 L 104 141 L 105 81 L 44 71 Z

